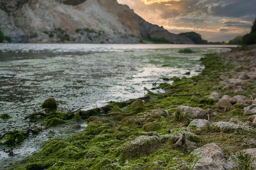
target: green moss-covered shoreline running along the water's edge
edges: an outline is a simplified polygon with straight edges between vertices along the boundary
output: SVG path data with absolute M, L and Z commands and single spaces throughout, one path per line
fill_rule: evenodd
M 243 52 L 243 53 L 242 53 Z M 51 128 L 77 124 L 87 120 L 82 132 L 65 139 L 49 139 L 40 152 L 10 165 L 10 170 L 180 170 L 195 169 L 201 159 L 192 152 L 195 148 L 215 143 L 231 159 L 230 169 L 252 169 L 252 158 L 243 150 L 255 148 L 256 133 L 243 129 L 193 128 L 191 119 L 177 116 L 179 106 L 203 110 L 211 109 L 203 119 L 211 125 L 228 122 L 231 118 L 246 124 L 248 115 L 241 114 L 243 106 L 234 104 L 228 108 L 218 106 L 219 99 L 208 96 L 218 92 L 222 96 L 238 95 L 234 89 L 227 90 L 220 77 L 233 78 L 241 72 L 237 66 L 246 60 L 237 58 L 254 55 L 255 50 L 209 54 L 202 58 L 205 69 L 198 76 L 175 79 L 173 84 L 160 84 L 166 93 L 155 94 L 148 90 L 148 97 L 127 102 L 112 102 L 108 106 L 88 111 L 77 110 L 73 114 L 51 111 L 45 115 L 32 115 Z M 243 55 L 243 56 L 242 56 Z M 243 94 L 250 97 L 256 93 L 255 80 L 243 86 Z M 132 102 L 131 102 L 132 101 Z M 54 121 L 54 122 L 53 122 Z M 59 123 L 59 124 L 58 124 Z M 192 128 L 191 128 L 192 127 Z M 255 127 L 252 127 L 255 130 Z M 248 139 L 248 140 L 247 140 Z M 252 139 L 252 142 L 249 142 Z M 254 160 L 255 161 L 255 160 Z

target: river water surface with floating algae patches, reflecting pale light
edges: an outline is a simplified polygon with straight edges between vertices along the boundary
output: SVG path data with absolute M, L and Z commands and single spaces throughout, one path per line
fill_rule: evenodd
M 144 87 L 156 87 L 166 82 L 164 77 L 199 74 L 204 68 L 199 59 L 204 54 L 229 51 L 228 47 L 232 46 L 0 44 L 0 114 L 12 117 L 0 119 L 0 135 L 33 127 L 25 117 L 42 111 L 40 105 L 48 97 L 54 97 L 58 110 L 65 113 L 143 97 Z M 195 53 L 178 53 L 184 48 Z M 86 122 L 81 127 L 83 130 Z M 40 150 L 42 141 L 65 135 L 57 128 L 48 129 L 30 135 L 18 146 L 0 145 L 0 164 L 3 167 L 10 159 L 22 159 Z M 11 149 L 14 156 L 8 156 Z

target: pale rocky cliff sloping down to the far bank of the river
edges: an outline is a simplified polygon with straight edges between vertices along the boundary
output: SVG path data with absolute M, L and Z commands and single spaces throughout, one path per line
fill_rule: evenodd
M 140 18 L 117 0 L 0 0 L 0 29 L 13 42 L 193 44 Z

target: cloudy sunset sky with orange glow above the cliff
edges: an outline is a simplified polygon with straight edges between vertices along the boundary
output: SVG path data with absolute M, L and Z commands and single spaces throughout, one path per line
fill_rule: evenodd
M 251 31 L 256 0 L 117 0 L 171 33 L 196 32 L 208 42 L 229 42 Z

